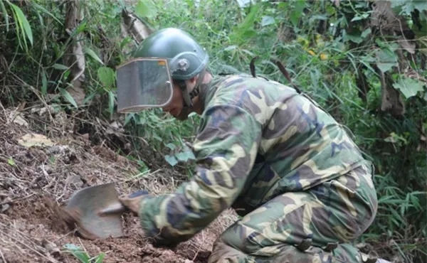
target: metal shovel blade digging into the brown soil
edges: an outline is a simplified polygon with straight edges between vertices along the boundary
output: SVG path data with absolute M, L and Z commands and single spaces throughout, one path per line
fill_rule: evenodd
M 65 207 L 78 232 L 90 240 L 121 237 L 121 215 L 125 207 L 120 203 L 114 183 L 83 188 L 70 198 Z

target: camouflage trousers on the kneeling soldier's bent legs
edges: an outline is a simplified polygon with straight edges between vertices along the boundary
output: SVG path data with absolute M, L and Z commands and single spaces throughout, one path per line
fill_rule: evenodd
M 350 242 L 371 225 L 376 208 L 371 169 L 359 166 L 248 213 L 218 237 L 209 262 L 364 262 Z

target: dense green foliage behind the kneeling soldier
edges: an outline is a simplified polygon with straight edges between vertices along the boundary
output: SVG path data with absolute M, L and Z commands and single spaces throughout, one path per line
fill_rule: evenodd
M 132 149 L 147 141 L 174 165 L 193 158 L 186 141 L 196 116 L 176 122 L 161 110 L 125 118 L 114 111 L 115 66 L 137 44 L 122 33 L 123 7 L 152 29 L 189 31 L 211 54 L 214 74 L 249 73 L 258 56 L 258 75 L 288 83 L 271 61 L 281 60 L 292 82 L 346 125 L 374 163 L 379 210 L 362 240 L 397 261 L 426 258 L 425 1 L 93 0 L 80 2 L 83 17 L 65 30 L 69 6 L 70 1 L 0 1 L 4 107 L 51 105 L 81 119 L 75 131 L 80 133 L 94 132 L 95 117 L 119 123 Z M 67 58 L 75 43 L 85 58 L 80 102 Z M 111 146 L 142 157 L 123 141 L 112 140 Z

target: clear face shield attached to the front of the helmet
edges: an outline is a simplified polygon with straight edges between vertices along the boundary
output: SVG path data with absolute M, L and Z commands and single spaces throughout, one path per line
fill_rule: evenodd
M 172 100 L 172 93 L 164 58 L 135 58 L 117 66 L 117 112 L 164 107 Z

